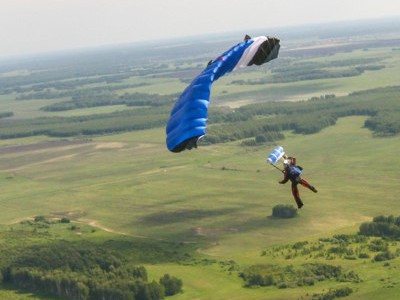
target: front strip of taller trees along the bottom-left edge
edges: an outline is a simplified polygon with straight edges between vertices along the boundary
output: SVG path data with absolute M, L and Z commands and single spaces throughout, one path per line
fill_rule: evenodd
M 182 291 L 182 280 L 169 274 L 148 282 L 144 267 L 106 274 L 6 267 L 1 277 L 18 289 L 79 300 L 159 300 Z

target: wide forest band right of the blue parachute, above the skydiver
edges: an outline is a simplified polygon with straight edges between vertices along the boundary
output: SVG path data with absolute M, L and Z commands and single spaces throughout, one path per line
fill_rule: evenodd
M 400 132 L 399 92 L 400 86 L 395 86 L 340 98 L 325 95 L 301 102 L 250 104 L 211 116 L 204 140 L 226 142 L 284 130 L 312 134 L 346 116 L 369 116 L 365 127 L 377 135 L 395 135 Z

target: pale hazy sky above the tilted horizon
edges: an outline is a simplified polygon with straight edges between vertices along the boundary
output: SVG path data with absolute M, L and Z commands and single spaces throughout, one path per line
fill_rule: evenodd
M 399 0 L 0 0 L 0 57 L 396 16 Z

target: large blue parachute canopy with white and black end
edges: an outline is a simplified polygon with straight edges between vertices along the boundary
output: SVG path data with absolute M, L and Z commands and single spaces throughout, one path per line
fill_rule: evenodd
M 262 65 L 278 57 L 279 39 L 266 36 L 250 38 L 210 61 L 183 91 L 166 126 L 166 143 L 171 152 L 197 148 L 206 134 L 211 86 L 221 76 L 240 67 Z

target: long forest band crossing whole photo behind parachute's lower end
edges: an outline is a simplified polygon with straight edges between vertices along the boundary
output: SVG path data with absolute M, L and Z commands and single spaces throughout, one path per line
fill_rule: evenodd
M 400 132 L 399 93 L 400 86 L 394 86 L 356 92 L 345 97 L 325 95 L 309 101 L 250 104 L 235 110 L 211 107 L 204 143 L 255 139 L 257 136 L 260 136 L 259 141 L 282 139 L 281 132 L 285 130 L 312 134 L 334 125 L 338 118 L 345 116 L 369 116 L 364 124 L 366 128 L 376 135 L 396 135 Z M 127 94 L 126 99 L 121 96 L 119 100 L 121 103 L 131 101 L 127 99 L 135 105 L 152 106 L 82 117 L 9 120 L 1 124 L 0 138 L 43 134 L 70 137 L 163 127 L 169 117 L 171 103 L 175 101 L 173 95 L 164 98 L 142 94 Z

